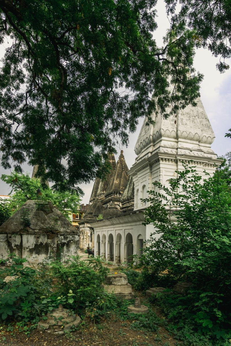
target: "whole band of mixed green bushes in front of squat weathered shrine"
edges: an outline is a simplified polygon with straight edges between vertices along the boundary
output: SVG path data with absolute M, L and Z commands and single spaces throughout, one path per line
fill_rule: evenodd
M 0 319 L 28 322 L 45 315 L 62 303 L 81 313 L 103 294 L 101 283 L 108 269 L 99 258 L 81 261 L 72 257 L 65 265 L 60 262 L 33 269 L 23 264 L 26 259 L 12 255 L 12 265 L 0 270 Z M 6 276 L 14 280 L 5 282 Z M 58 279 L 52 287 L 52 279 Z M 52 289 L 52 290 L 51 290 Z

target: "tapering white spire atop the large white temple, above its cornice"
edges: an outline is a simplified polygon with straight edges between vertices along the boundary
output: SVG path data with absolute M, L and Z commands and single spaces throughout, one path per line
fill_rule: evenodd
M 216 158 L 211 149 L 215 138 L 210 121 L 206 115 L 200 98 L 197 105 L 188 105 L 179 110 L 177 115 L 165 119 L 153 112 L 152 120 L 155 125 L 144 122 L 135 145 L 136 162 L 156 151 L 172 154 L 189 154 Z

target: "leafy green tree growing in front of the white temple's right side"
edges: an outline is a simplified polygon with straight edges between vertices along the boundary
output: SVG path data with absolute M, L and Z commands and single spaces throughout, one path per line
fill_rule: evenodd
M 186 164 L 176 173 L 169 189 L 153 183 L 159 192 L 149 191 L 150 197 L 143 200 L 150 203 L 145 223 L 153 224 L 155 231 L 141 265 L 149 282 L 165 281 L 170 287 L 190 282 L 185 298 L 169 297 L 175 322 L 191 319 L 197 328 L 219 337 L 220 328 L 231 322 L 230 180 L 222 178 L 222 167 L 207 179 Z

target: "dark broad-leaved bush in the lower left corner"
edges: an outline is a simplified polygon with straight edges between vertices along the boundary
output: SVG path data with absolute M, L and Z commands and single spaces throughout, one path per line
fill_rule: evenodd
M 24 267 L 25 259 L 11 257 L 12 265 L 0 271 L 0 319 L 27 322 L 46 311 L 39 303 L 42 294 L 51 293 L 51 278 L 43 270 Z M 6 276 L 13 280 L 5 282 Z

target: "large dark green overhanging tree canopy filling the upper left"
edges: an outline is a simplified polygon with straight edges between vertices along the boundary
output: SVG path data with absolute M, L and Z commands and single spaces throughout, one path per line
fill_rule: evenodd
M 20 172 L 27 159 L 54 188 L 73 188 L 105 174 L 107 151 L 127 144 L 139 117 L 195 104 L 200 43 L 179 25 L 158 47 L 156 3 L 0 0 L 0 43 L 11 42 L 0 70 L 4 168 Z

